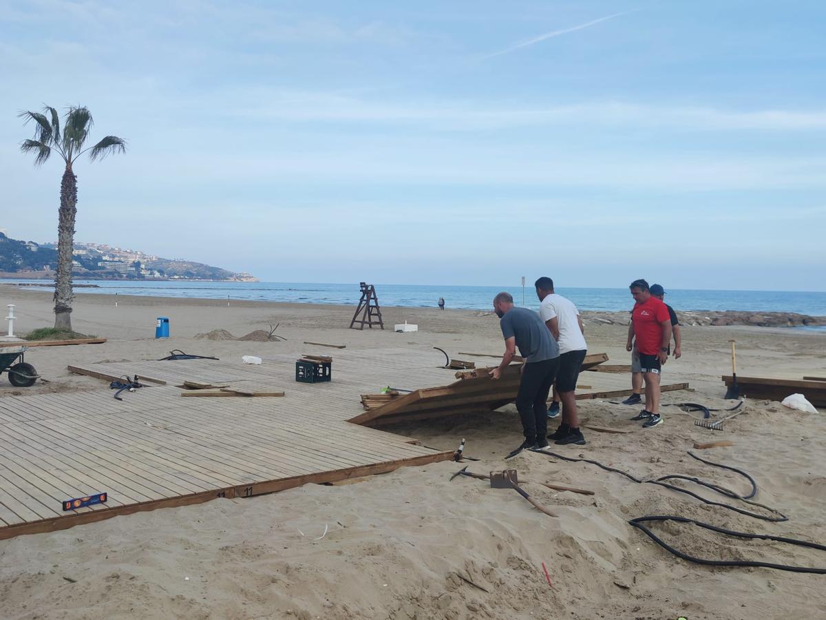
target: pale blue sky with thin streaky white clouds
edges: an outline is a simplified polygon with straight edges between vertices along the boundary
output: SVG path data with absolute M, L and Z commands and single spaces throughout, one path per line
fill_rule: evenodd
M 85 105 L 76 241 L 265 281 L 826 290 L 826 2 L 0 0 L 17 113 Z

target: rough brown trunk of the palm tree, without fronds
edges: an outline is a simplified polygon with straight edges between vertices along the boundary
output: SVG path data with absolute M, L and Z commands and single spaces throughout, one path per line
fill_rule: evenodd
M 57 274 L 55 274 L 55 329 L 72 331 L 72 250 L 74 217 L 78 212 L 78 178 L 66 165 L 60 182 L 60 209 L 57 228 Z

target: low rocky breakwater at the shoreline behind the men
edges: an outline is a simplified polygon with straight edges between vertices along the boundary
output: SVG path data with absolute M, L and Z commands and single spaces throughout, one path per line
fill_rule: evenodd
M 690 310 L 675 308 L 681 325 L 722 327 L 751 325 L 754 327 L 805 327 L 826 325 L 826 317 L 811 317 L 796 312 L 744 312 L 741 310 Z M 629 312 L 582 312 L 583 322 L 591 325 L 628 325 Z

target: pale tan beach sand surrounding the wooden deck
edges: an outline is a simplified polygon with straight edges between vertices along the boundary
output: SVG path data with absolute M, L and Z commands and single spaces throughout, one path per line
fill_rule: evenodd
M 16 330 L 50 327 L 49 293 L 2 286 L 15 303 Z M 74 303 L 76 331 L 106 337 L 94 346 L 32 349 L 27 359 L 49 379 L 12 393 L 102 389 L 66 366 L 102 360 L 158 359 L 172 349 L 222 359 L 273 355 L 278 342 L 211 341 L 198 333 L 225 329 L 243 336 L 280 322 L 290 342 L 344 344 L 351 349 L 439 346 L 499 353 L 501 332 L 486 312 L 382 308 L 386 325 L 417 323 L 396 334 L 347 329 L 354 307 L 218 300 L 138 298 L 83 293 Z M 355 302 L 355 298 L 354 298 Z M 629 297 L 630 306 L 630 297 Z M 679 312 L 679 308 L 677 308 Z M 154 339 L 155 317 L 170 318 L 172 337 Z M 683 357 L 665 366 L 667 383 L 695 392 L 663 394 L 664 403 L 724 401 L 721 374 L 731 370 L 729 338 L 738 344 L 738 374 L 800 378 L 826 375 L 826 334 L 762 327 L 683 327 Z M 628 364 L 626 327 L 586 318 L 589 351 Z M 335 355 L 335 350 L 330 349 Z M 486 358 L 478 358 L 486 360 Z M 495 362 L 490 358 L 491 363 Z M 586 375 L 583 375 L 586 376 Z M 586 382 L 581 378 L 580 383 Z M 428 386 L 413 386 L 428 387 Z M 358 394 L 353 395 L 358 399 Z M 638 408 L 580 402 L 590 422 L 617 426 Z M 738 492 L 742 478 L 695 461 L 693 441 L 728 439 L 734 446 L 697 451 L 747 470 L 755 498 L 788 515 L 767 522 L 700 503 L 652 484 L 634 484 L 594 465 L 554 462 L 523 453 L 515 408 L 419 422 L 387 430 L 481 459 L 401 468 L 357 484 L 308 484 L 254 498 L 216 499 L 186 508 L 114 517 L 61 532 L 0 541 L 2 618 L 824 618 L 823 575 L 762 568 L 695 565 L 667 553 L 628 519 L 672 514 L 740 532 L 769 533 L 826 544 L 826 421 L 780 403 L 748 400 L 725 432 L 695 427 L 695 415 L 664 408 L 665 424 L 623 435 L 585 430 L 586 446 L 552 446 L 599 460 L 641 478 L 684 474 Z M 627 422 L 622 422 L 626 424 Z M 553 427 L 553 422 L 552 422 Z M 328 441 L 336 441 L 330 436 Z M 525 489 L 558 518 L 539 513 L 514 492 L 450 475 L 463 465 L 487 473 L 511 467 L 520 479 L 556 481 L 595 491 L 586 496 Z M 706 498 L 735 499 L 695 490 Z M 744 507 L 748 508 L 748 507 Z M 322 533 L 326 533 L 322 537 Z M 709 559 L 764 560 L 826 568 L 826 552 L 771 541 L 741 541 L 667 523 L 658 534 L 688 554 Z M 303 533 L 303 535 L 302 535 Z M 544 575 L 547 567 L 551 584 Z M 460 576 L 461 575 L 461 576 Z M 468 583 L 468 582 L 472 582 Z M 474 585 L 476 584 L 476 585 Z

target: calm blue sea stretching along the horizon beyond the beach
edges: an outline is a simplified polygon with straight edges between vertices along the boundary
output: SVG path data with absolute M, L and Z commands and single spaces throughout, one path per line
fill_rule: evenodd
M 43 280 L 4 280 L 34 284 L 31 289 L 51 290 Z M 44 286 L 36 286 L 44 284 Z M 244 299 L 250 301 L 290 303 L 330 303 L 354 305 L 360 297 L 358 282 L 320 284 L 295 282 L 205 282 L 205 281 L 138 281 L 75 280 L 75 294 L 104 293 L 118 295 L 152 295 L 171 298 Z M 434 308 L 444 297 L 445 308 L 490 310 L 491 300 L 507 291 L 517 305 L 539 308 L 534 288 L 519 284 L 508 286 L 444 286 L 439 284 L 375 284 L 382 306 Z M 628 289 L 557 289 L 580 310 L 615 312 L 629 310 L 634 304 Z M 826 316 L 826 292 L 727 291 L 667 289 L 666 301 L 676 310 L 741 310 L 747 312 L 799 312 Z

